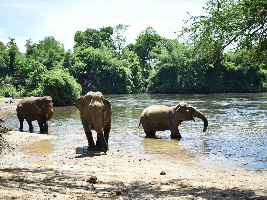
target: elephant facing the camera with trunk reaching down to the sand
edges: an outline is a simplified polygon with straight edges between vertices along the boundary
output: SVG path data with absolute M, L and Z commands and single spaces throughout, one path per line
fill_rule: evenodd
M 80 111 L 80 118 L 88 141 L 87 151 L 108 150 L 108 136 L 111 129 L 111 103 L 104 99 L 101 92 L 88 92 L 75 100 L 75 107 Z M 97 133 L 96 144 L 92 130 Z M 103 133 L 104 132 L 104 133 Z

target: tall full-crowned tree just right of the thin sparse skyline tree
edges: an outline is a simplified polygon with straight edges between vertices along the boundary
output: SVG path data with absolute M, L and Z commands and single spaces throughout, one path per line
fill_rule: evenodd
M 160 41 L 161 37 L 159 34 L 151 27 L 146 28 L 144 31 L 139 33 L 136 43 L 134 44 L 135 52 L 142 61 L 143 66 L 146 70 L 150 71 L 152 56 L 152 48 L 156 46 L 156 42 Z

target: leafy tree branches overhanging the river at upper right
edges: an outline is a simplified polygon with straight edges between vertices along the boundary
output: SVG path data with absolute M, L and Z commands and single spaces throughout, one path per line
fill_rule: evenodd
M 245 49 L 246 61 L 267 59 L 267 3 L 265 0 L 209 0 L 207 15 L 191 16 L 180 36 L 189 34 L 195 54 L 206 67 L 217 61 L 226 48 Z

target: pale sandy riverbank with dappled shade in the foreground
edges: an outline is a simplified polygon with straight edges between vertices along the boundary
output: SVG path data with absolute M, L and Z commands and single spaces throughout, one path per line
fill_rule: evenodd
M 53 136 L 5 134 L 11 149 L 0 158 L 4 199 L 267 199 L 267 174 L 202 169 L 86 147 L 28 157 L 19 145 Z M 35 165 L 19 165 L 23 160 Z M 50 163 L 50 164 L 48 164 Z M 164 173 L 165 172 L 165 173 Z M 96 176 L 95 183 L 88 183 Z

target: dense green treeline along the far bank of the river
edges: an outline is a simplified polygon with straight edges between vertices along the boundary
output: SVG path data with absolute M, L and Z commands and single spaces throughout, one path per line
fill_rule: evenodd
M 0 96 L 49 95 L 56 106 L 81 94 L 266 92 L 267 63 L 252 65 L 243 52 L 227 52 L 214 62 L 199 59 L 190 44 L 161 37 L 149 27 L 125 46 L 129 25 L 77 31 L 74 50 L 53 36 L 26 40 L 19 52 L 13 38 L 0 41 Z M 112 36 L 116 39 L 113 40 Z M 205 59 L 209 65 L 205 64 Z M 15 90 L 14 90 L 15 88 Z

